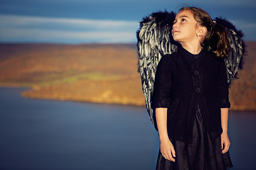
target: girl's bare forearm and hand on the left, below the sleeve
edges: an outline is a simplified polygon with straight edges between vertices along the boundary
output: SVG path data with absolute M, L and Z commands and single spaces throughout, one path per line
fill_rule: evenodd
M 170 161 L 175 161 L 175 149 L 167 134 L 167 108 L 156 108 L 155 118 L 159 132 L 162 156 Z

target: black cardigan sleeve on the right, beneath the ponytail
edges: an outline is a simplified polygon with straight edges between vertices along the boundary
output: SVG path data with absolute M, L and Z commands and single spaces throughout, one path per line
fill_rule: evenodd
M 219 64 L 219 74 L 217 76 L 217 100 L 220 108 L 230 108 L 230 102 L 228 99 L 228 82 L 227 82 L 227 70 L 224 59 Z

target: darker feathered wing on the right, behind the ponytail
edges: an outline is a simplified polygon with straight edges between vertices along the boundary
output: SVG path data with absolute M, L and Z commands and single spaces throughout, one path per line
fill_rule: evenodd
M 236 30 L 235 26 L 225 18 L 215 18 L 217 24 L 226 28 L 228 33 L 228 41 L 231 47 L 229 55 L 225 58 L 227 68 L 228 84 L 237 79 L 238 70 L 242 69 L 244 56 L 246 55 L 245 44 L 243 41 L 243 33 Z

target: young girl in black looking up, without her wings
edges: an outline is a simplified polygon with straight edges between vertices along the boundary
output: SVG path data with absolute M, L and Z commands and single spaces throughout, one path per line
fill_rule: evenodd
M 161 58 L 154 81 L 160 139 L 156 169 L 231 168 L 227 33 L 205 11 L 186 7 L 176 15 L 172 36 L 180 46 Z M 216 36 L 216 48 L 209 52 L 204 45 Z

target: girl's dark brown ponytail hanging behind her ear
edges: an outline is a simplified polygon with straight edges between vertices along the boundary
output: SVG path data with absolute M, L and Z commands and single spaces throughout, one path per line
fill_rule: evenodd
M 215 57 L 223 58 L 229 54 L 230 45 L 227 31 L 222 25 L 217 24 L 215 21 L 212 22 L 211 36 L 208 42 L 212 47 L 211 52 Z

